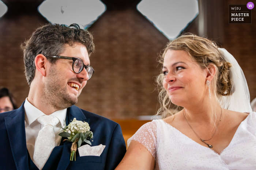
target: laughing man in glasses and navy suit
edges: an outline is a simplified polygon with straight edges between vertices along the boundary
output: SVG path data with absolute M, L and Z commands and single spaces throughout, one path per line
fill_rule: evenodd
M 77 24 L 46 24 L 22 49 L 30 91 L 20 108 L 0 114 L 0 169 L 115 169 L 126 152 L 120 125 L 74 105 L 94 73 L 91 33 Z M 105 145 L 100 156 L 80 156 L 77 150 L 76 161 L 70 161 L 72 143 L 59 133 L 74 118 L 89 123 L 91 146 Z

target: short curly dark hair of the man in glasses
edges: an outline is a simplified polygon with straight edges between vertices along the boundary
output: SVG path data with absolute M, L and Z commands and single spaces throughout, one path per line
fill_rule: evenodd
M 89 31 L 81 29 L 78 24 L 67 26 L 49 23 L 37 28 L 30 39 L 20 46 L 23 50 L 25 75 L 29 86 L 35 76 L 34 60 L 38 54 L 44 56 L 59 55 L 64 51 L 65 44 L 74 46 L 75 43 L 83 44 L 89 56 L 95 51 L 93 35 Z M 47 59 L 53 64 L 57 60 Z

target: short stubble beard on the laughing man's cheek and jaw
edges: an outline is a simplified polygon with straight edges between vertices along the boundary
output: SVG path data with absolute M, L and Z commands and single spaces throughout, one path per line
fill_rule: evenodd
M 78 96 L 73 97 L 68 93 L 67 82 L 61 79 L 62 75 L 51 65 L 49 77 L 44 84 L 43 101 L 46 105 L 52 106 L 55 110 L 63 110 L 78 102 Z M 80 94 L 80 93 L 79 93 Z

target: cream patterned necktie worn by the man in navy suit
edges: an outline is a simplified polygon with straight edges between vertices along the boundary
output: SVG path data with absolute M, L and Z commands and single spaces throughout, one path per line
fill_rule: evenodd
M 52 153 L 52 150 L 55 147 L 54 126 L 59 123 L 59 119 L 55 116 L 45 115 L 39 117 L 37 121 L 41 123 L 43 127 L 35 140 L 33 162 L 38 169 L 42 170 L 50 153 Z

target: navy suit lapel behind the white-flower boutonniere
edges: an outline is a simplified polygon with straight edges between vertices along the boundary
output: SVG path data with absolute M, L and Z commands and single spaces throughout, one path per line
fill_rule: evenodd
M 87 123 L 89 123 L 89 120 L 90 120 L 90 119 L 86 119 L 86 116 L 83 114 L 83 112 L 79 107 L 76 107 L 73 105 L 67 109 L 66 125 L 68 126 L 69 122 L 72 122 L 74 118 L 76 118 L 76 120 L 86 121 Z M 63 147 L 63 151 L 61 154 L 61 158 L 60 158 L 60 162 L 57 167 L 57 170 L 67 169 L 70 163 L 70 153 L 71 153 L 72 143 L 67 141 L 63 142 L 64 139 L 67 139 L 67 138 L 64 138 L 64 137 L 61 138 L 60 145 L 64 145 L 64 147 Z

